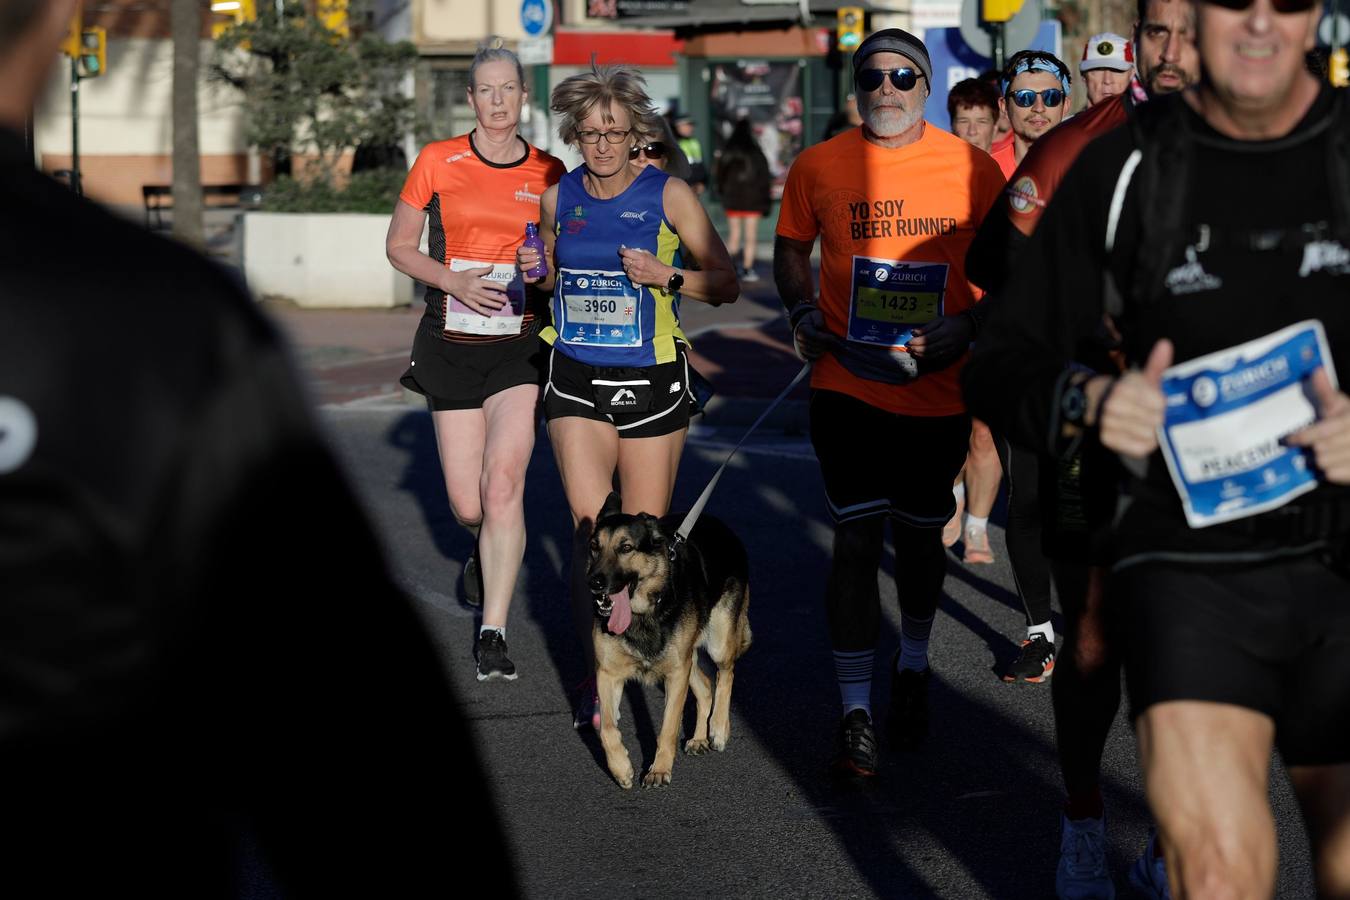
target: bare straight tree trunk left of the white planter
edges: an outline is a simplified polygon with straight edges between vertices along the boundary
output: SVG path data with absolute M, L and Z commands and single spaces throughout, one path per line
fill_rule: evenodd
M 201 150 L 197 139 L 197 76 L 201 0 L 173 0 L 173 233 L 201 247 Z

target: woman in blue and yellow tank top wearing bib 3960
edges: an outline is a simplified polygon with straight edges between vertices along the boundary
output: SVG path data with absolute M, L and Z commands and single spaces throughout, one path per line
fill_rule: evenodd
M 540 233 L 548 275 L 525 277 L 554 294 L 544 418 L 571 506 L 574 621 L 594 673 L 594 602 L 586 584 L 595 514 L 614 476 L 625 513 L 664 515 L 693 402 L 680 300 L 729 304 L 740 294 L 726 247 L 694 192 L 629 157 L 657 134 L 640 74 L 591 66 L 554 90 L 560 136 L 583 165 L 544 192 Z M 683 269 L 684 255 L 701 263 Z M 521 248 L 517 263 L 539 262 Z M 595 687 L 583 685 L 576 726 L 599 727 Z

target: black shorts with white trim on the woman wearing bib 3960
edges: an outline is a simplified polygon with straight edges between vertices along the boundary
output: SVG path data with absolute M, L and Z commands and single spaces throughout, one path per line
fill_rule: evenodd
M 544 420 L 579 416 L 609 422 L 620 437 L 660 437 L 688 428 L 694 409 L 688 360 L 683 344 L 675 349 L 675 362 L 640 368 L 587 366 L 548 349 Z M 629 403 L 634 412 L 622 412 Z

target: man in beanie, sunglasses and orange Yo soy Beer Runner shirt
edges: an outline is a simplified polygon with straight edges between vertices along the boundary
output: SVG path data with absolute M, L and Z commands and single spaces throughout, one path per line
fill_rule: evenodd
M 927 642 L 942 594 L 942 526 L 971 420 L 957 374 L 979 298 L 965 251 L 1003 178 L 988 154 L 926 125 L 923 42 L 878 31 L 853 54 L 863 125 L 803 151 L 788 170 L 774 278 L 794 345 L 814 362 L 811 443 L 834 552 L 825 607 L 842 721 L 834 768 L 878 770 L 872 663 L 886 521 L 895 542 L 900 648 L 890 658 L 890 743 L 927 734 Z M 819 293 L 811 248 L 821 240 Z

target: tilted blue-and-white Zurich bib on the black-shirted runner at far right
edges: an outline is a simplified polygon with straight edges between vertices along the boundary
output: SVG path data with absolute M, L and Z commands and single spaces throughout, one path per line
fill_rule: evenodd
M 1316 421 L 1312 372 L 1331 382 L 1327 336 L 1303 321 L 1162 374 L 1158 443 L 1191 528 L 1284 506 L 1318 486 L 1311 457 L 1284 439 Z

